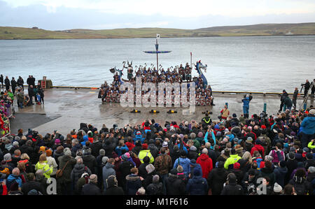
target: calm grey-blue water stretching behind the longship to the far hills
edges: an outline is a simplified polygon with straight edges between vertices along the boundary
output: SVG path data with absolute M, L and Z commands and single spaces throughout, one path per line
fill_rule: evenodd
M 161 38 L 159 64 L 169 66 L 201 60 L 214 90 L 281 92 L 315 78 L 315 36 Z M 36 80 L 46 75 L 53 85 L 99 87 L 111 82 L 109 69 L 123 61 L 134 66 L 156 64 L 155 38 L 107 40 L 0 41 L 0 73 Z M 126 70 L 125 70 L 126 71 Z M 197 75 L 196 71 L 194 71 Z M 124 73 L 127 78 L 127 73 Z

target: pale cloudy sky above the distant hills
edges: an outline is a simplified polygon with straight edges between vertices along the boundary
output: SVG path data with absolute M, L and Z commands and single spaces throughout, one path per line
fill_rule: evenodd
M 315 22 L 315 0 L 0 0 L 0 26 L 48 30 Z

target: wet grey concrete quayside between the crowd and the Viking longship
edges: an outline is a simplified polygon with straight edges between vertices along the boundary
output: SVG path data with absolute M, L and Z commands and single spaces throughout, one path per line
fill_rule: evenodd
M 160 113 L 151 114 L 148 112 L 153 108 L 123 108 L 119 103 L 102 104 L 101 99 L 97 98 L 97 94 L 98 90 L 91 89 L 46 89 L 44 105 L 20 109 L 15 104 L 15 112 L 19 113 L 17 117 L 23 117 L 20 125 L 25 131 L 27 131 L 26 127 L 29 127 L 40 134 L 52 133 L 57 130 L 66 135 L 72 129 L 78 130 L 81 122 L 92 124 L 98 129 L 102 128 L 102 124 L 106 124 L 107 127 L 113 127 L 113 124 L 123 127 L 126 124 L 139 124 L 146 119 L 154 119 L 155 122 L 163 125 L 165 121 L 196 120 L 200 122 L 204 117 L 202 112 L 207 110 L 213 113 L 211 115 L 213 120 L 218 120 L 218 115 L 225 103 L 228 103 L 230 115 L 236 113 L 239 117 L 243 111 L 241 99 L 244 96 L 244 94 L 214 94 L 216 106 L 196 106 L 193 115 L 183 115 L 183 110 L 188 108 L 154 108 Z M 279 110 L 279 96 L 254 94 L 249 113 L 261 113 L 264 103 L 267 103 L 268 115 L 276 114 Z M 297 106 L 300 105 L 302 106 L 302 99 L 297 100 Z M 314 105 L 314 99 L 309 99 L 307 107 L 310 105 Z M 130 113 L 133 109 L 141 110 L 141 113 Z M 178 113 L 168 114 L 168 110 L 176 110 Z M 34 114 L 37 114 L 37 117 L 34 117 Z M 11 124 L 15 126 L 13 131 L 18 130 L 18 118 L 11 120 Z M 13 134 L 16 133 L 13 132 Z

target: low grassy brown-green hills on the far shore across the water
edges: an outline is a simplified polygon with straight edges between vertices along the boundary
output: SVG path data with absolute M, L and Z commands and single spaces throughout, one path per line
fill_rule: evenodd
M 253 24 L 244 26 L 208 27 L 202 29 L 69 29 L 49 31 L 23 27 L 0 27 L 0 39 L 92 39 L 92 38 L 162 38 L 211 36 L 284 36 L 315 35 L 315 22 L 297 24 Z

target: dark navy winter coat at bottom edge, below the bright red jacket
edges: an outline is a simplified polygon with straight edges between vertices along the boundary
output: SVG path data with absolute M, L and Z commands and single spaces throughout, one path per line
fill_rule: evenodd
M 207 195 L 208 183 L 201 175 L 194 175 L 193 178 L 188 180 L 186 190 L 190 195 Z

